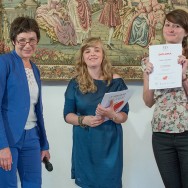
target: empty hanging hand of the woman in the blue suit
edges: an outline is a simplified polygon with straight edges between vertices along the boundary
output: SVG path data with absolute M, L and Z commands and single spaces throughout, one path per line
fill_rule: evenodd
M 0 150 L 0 168 L 8 171 L 12 166 L 12 154 L 10 148 L 3 148 Z

